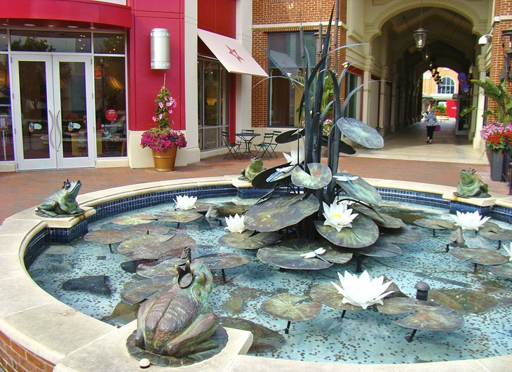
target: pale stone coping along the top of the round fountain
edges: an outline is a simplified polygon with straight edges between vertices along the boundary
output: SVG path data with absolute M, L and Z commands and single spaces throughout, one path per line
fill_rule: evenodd
M 105 201 L 134 195 L 178 190 L 188 187 L 234 185 L 248 187 L 248 182 L 236 180 L 238 176 L 198 178 L 149 182 L 115 187 L 109 190 L 80 195 L 77 199 L 86 213 L 93 214 L 93 207 Z M 410 190 L 440 194 L 447 199 L 453 196 L 454 187 L 415 182 L 367 179 L 375 187 Z M 487 199 L 462 199 L 474 205 L 496 204 L 512 207 L 512 198 L 493 195 Z M 450 199 L 452 200 L 452 199 Z M 38 232 L 58 221 L 59 227 L 76 221 L 41 218 L 34 208 L 17 213 L 0 226 L 0 331 L 15 343 L 39 357 L 55 364 L 55 371 L 139 371 L 138 363 L 129 356 L 125 342 L 136 328 L 136 321 L 121 328 L 105 324 L 72 309 L 43 291 L 29 277 L 23 257 L 29 241 Z M 512 355 L 487 359 L 447 361 L 425 364 L 359 365 L 319 362 L 289 361 L 284 359 L 257 358 L 244 355 L 252 343 L 248 331 L 227 329 L 229 343 L 220 354 L 193 366 L 180 367 L 184 371 L 247 371 L 248 366 L 258 366 L 258 371 L 509 371 Z M 152 369 L 163 369 L 151 366 Z

